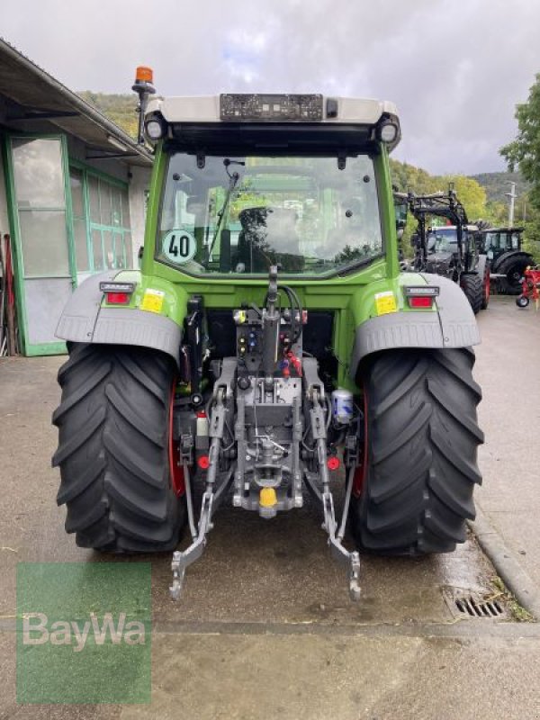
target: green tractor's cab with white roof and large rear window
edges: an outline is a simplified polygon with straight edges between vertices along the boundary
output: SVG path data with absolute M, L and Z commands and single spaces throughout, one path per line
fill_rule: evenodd
M 271 266 L 326 279 L 390 252 L 381 150 L 400 139 L 392 103 L 152 98 L 144 118 L 141 133 L 163 167 L 159 264 L 207 280 L 266 277 Z

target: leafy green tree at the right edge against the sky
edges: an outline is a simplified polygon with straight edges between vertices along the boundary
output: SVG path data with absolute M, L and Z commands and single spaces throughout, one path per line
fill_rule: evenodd
M 532 185 L 530 201 L 540 211 L 540 73 L 529 91 L 527 103 L 516 106 L 518 137 L 500 148 L 509 169 L 519 170 Z

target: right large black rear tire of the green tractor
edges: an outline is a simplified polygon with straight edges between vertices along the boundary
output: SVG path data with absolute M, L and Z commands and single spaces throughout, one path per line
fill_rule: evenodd
M 359 549 L 421 555 L 464 542 L 482 482 L 473 364 L 469 349 L 396 350 L 365 368 L 365 472 L 349 516 Z

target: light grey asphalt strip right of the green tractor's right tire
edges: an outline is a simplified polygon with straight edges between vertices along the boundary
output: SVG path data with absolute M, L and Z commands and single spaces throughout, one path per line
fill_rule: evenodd
M 484 484 L 476 500 L 540 586 L 540 311 L 494 297 L 478 316 L 476 380 L 484 400 Z

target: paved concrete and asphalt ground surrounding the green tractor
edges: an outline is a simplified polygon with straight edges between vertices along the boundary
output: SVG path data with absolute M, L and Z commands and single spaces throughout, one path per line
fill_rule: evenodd
M 540 582 L 540 315 L 495 298 L 479 322 L 486 445 L 477 500 Z M 0 362 L 0 720 L 540 717 L 540 626 L 466 620 L 447 601 L 457 589 L 497 591 L 473 537 L 446 556 L 363 558 L 363 598 L 351 604 L 312 504 L 268 523 L 221 511 L 178 604 L 167 595 L 170 557 L 151 558 L 151 704 L 17 705 L 16 563 L 100 560 L 64 533 L 55 502 L 50 415 L 61 362 Z

